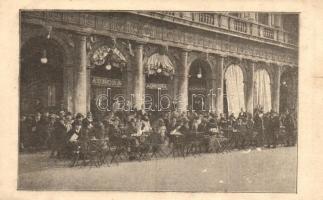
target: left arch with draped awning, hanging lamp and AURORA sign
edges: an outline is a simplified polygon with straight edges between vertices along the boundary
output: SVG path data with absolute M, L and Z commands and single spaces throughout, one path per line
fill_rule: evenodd
M 93 51 L 91 60 L 91 107 L 98 120 L 109 110 L 126 109 L 124 97 L 127 60 L 113 45 L 103 44 Z

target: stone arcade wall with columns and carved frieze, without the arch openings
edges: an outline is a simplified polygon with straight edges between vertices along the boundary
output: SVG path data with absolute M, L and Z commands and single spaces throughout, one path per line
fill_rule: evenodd
M 192 16 L 183 13 L 180 17 Z M 253 110 L 251 80 L 256 68 L 268 69 L 272 80 L 272 107 L 278 111 L 281 66 L 297 67 L 297 50 L 289 46 L 259 43 L 240 38 L 239 34 L 236 37 L 217 34 L 134 14 L 23 13 L 21 46 L 31 37 L 46 37 L 48 27 L 52 28 L 52 39 L 58 41 L 64 52 L 64 104 L 73 112 L 86 113 L 90 109 L 92 64 L 89 58 L 91 48 L 99 46 L 102 41 L 116 41 L 117 48 L 126 55 L 124 93 L 127 96 L 134 94 L 138 108 L 145 92 L 145 61 L 160 48 L 168 49 L 167 55 L 175 66 L 172 95 L 184 94 L 180 97 L 182 109 L 188 102 L 189 68 L 197 59 L 209 65 L 208 81 L 216 89 L 214 104 L 218 112 L 223 111 L 223 77 L 230 64 L 238 64 L 244 71 L 248 111 Z

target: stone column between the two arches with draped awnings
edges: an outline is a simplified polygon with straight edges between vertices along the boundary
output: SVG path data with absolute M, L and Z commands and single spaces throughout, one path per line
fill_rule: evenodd
M 135 108 L 141 109 L 144 104 L 145 77 L 143 66 L 143 44 L 135 47 L 135 70 L 134 72 L 134 104 Z

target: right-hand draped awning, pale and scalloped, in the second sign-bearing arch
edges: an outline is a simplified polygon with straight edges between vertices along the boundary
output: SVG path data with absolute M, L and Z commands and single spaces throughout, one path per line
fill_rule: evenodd
M 148 58 L 145 65 L 145 72 L 148 75 L 162 73 L 166 76 L 170 76 L 174 74 L 175 70 L 167 55 L 155 53 Z

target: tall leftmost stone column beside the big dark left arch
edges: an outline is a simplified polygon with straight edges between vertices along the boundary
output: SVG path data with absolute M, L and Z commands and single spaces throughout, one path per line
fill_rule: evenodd
M 74 84 L 74 111 L 86 114 L 87 108 L 87 72 L 86 72 L 86 36 L 76 36 L 76 67 Z

